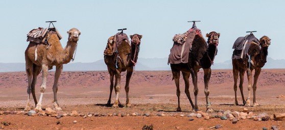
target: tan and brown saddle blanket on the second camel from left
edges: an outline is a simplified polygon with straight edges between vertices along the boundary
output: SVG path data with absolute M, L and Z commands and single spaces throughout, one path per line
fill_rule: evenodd
M 129 41 L 128 35 L 125 33 L 117 33 L 114 36 L 111 36 L 108 39 L 107 46 L 104 50 L 104 55 L 106 56 L 112 56 L 114 53 L 117 52 L 117 48 L 123 41 L 126 41 L 129 44 L 129 47 L 131 46 L 131 43 Z

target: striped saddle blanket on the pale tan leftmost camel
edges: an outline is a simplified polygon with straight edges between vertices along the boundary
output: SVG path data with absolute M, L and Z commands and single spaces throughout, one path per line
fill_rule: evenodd
M 47 32 L 51 32 L 54 31 L 56 32 L 59 40 L 62 38 L 61 35 L 58 33 L 56 28 L 37 28 L 37 29 L 33 29 L 31 30 L 28 34 L 27 34 L 27 41 L 31 41 L 31 42 L 36 42 L 36 43 L 44 43 L 45 44 L 45 39 L 46 39 L 46 33 Z

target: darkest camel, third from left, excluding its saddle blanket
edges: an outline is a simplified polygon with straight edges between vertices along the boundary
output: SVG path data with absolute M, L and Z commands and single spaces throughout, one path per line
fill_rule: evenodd
M 197 105 L 197 95 L 198 95 L 198 83 L 197 83 L 197 73 L 200 68 L 204 70 L 204 83 L 205 83 L 205 95 L 206 95 L 206 104 L 207 104 L 207 112 L 212 112 L 212 108 L 210 106 L 210 102 L 208 99 L 209 89 L 208 83 L 211 76 L 211 65 L 213 64 L 213 60 L 217 55 L 217 46 L 219 43 L 220 33 L 211 32 L 206 35 L 208 37 L 208 45 L 204 38 L 201 35 L 196 35 L 193 41 L 193 46 L 191 53 L 189 53 L 188 63 L 180 63 L 180 64 L 171 64 L 171 70 L 173 74 L 173 78 L 175 80 L 175 84 L 177 87 L 177 97 L 178 97 L 178 108 L 176 111 L 181 112 L 180 108 L 180 90 L 179 90 L 179 77 L 180 71 L 182 72 L 183 79 L 185 82 L 185 93 L 191 103 L 193 111 L 198 111 Z M 190 93 L 189 93 L 189 76 L 192 75 L 193 85 L 194 85 L 194 95 L 195 95 L 195 105 L 193 104 Z

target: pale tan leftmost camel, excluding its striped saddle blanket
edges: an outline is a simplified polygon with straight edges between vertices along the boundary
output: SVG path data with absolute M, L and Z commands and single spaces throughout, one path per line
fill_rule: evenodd
M 52 66 L 56 66 L 55 80 L 53 85 L 54 92 L 54 108 L 55 110 L 61 110 L 57 101 L 57 84 L 59 76 L 62 72 L 63 64 L 67 64 L 73 59 L 74 52 L 77 47 L 77 41 L 79 40 L 80 31 L 73 28 L 70 29 L 67 34 L 68 41 L 67 45 L 63 49 L 58 35 L 53 31 L 47 33 L 47 44 L 37 44 L 35 42 L 30 42 L 29 46 L 25 51 L 26 59 L 26 72 L 28 75 L 28 103 L 25 110 L 31 110 L 30 107 L 30 94 L 32 92 L 33 98 L 36 104 L 35 110 L 41 111 L 41 100 L 43 93 L 46 89 L 46 77 L 47 72 Z M 37 53 L 35 53 L 35 50 Z M 36 58 L 37 57 L 37 58 Z M 35 59 L 36 58 L 36 59 Z M 40 98 L 37 102 L 35 95 L 35 85 L 37 82 L 37 76 L 42 70 L 42 84 L 40 88 Z

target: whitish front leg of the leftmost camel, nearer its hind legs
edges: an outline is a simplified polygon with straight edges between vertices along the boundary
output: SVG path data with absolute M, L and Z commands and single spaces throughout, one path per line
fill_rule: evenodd
M 41 109 L 41 100 L 42 100 L 42 96 L 43 96 L 43 93 L 46 89 L 46 77 L 47 77 L 47 72 L 49 70 L 49 66 L 43 64 L 41 66 L 42 68 L 42 83 L 41 83 L 41 86 L 40 86 L 40 98 L 39 98 L 39 101 L 37 103 L 37 107 L 35 108 L 35 110 L 38 110 L 38 111 L 42 111 Z

